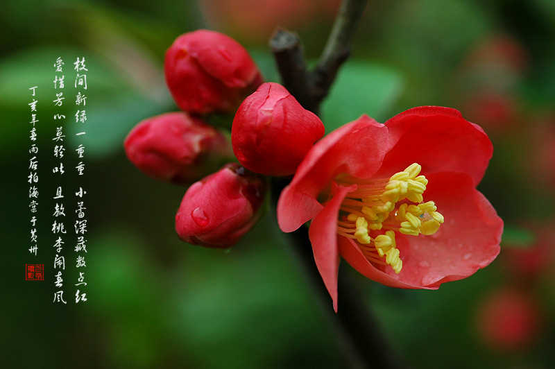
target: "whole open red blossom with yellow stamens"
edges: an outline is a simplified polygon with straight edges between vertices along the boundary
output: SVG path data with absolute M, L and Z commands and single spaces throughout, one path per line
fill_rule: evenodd
M 337 309 L 343 257 L 387 286 L 437 289 L 490 264 L 503 223 L 475 189 L 493 146 L 450 108 L 377 123 L 363 115 L 318 141 L 278 201 L 278 223 L 312 223 L 314 259 Z

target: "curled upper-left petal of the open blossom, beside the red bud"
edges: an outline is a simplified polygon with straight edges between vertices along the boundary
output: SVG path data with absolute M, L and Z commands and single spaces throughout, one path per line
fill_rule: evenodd
M 371 177 L 382 164 L 387 128 L 363 115 L 318 141 L 278 200 L 278 224 L 292 232 L 321 211 L 318 195 L 340 173 Z

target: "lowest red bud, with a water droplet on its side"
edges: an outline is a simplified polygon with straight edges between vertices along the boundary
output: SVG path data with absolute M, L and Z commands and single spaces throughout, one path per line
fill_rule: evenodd
M 176 214 L 180 239 L 193 245 L 228 248 L 259 218 L 266 183 L 237 163 L 189 187 Z

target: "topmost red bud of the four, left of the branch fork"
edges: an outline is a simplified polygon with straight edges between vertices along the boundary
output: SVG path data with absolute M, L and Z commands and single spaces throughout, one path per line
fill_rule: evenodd
M 166 83 L 179 108 L 231 113 L 262 83 L 246 49 L 222 33 L 198 30 L 176 39 L 166 52 Z

